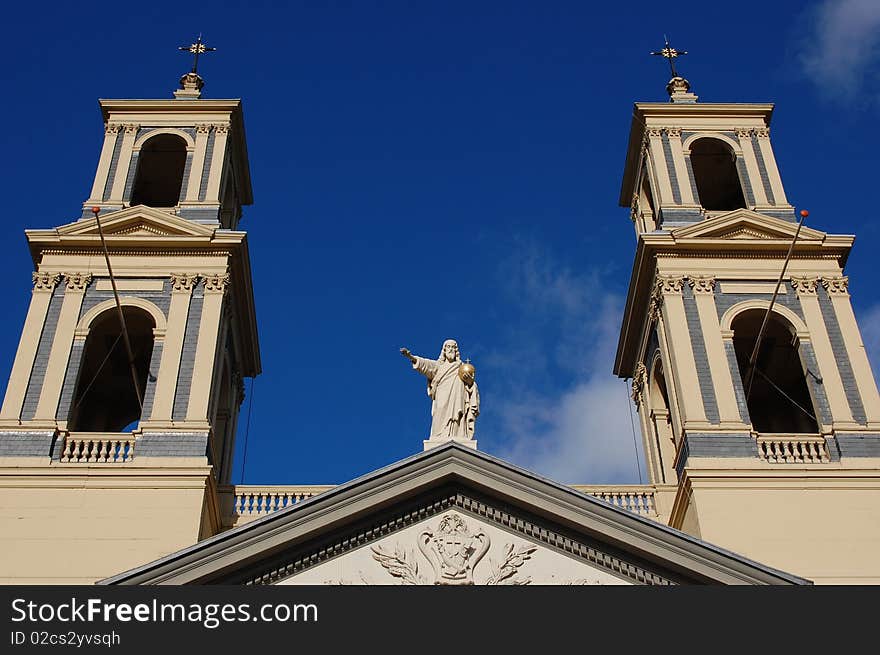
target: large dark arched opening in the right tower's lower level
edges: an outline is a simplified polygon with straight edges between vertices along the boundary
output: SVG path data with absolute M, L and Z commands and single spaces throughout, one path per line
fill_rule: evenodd
M 748 384 L 749 358 L 766 310 L 749 309 L 731 324 L 733 347 L 743 385 Z M 755 360 L 746 405 L 752 426 L 764 433 L 818 433 L 816 410 L 807 388 L 794 329 L 771 313 Z

